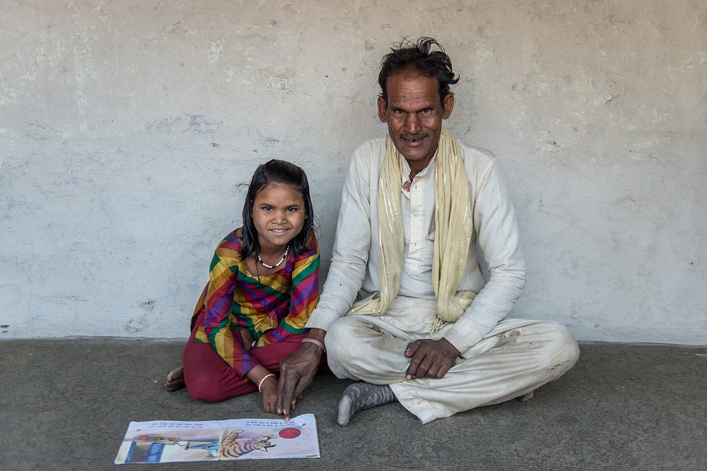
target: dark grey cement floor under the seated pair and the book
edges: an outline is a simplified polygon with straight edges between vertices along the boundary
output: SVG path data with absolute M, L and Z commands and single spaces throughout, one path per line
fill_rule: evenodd
M 320 374 L 296 412 L 317 417 L 322 458 L 117 469 L 707 470 L 707 348 L 581 350 L 527 403 L 424 426 L 391 403 L 339 427 L 334 407 L 349 382 Z M 165 392 L 181 351 L 156 340 L 0 341 L 0 470 L 115 470 L 131 421 L 277 418 L 257 394 L 208 404 Z

